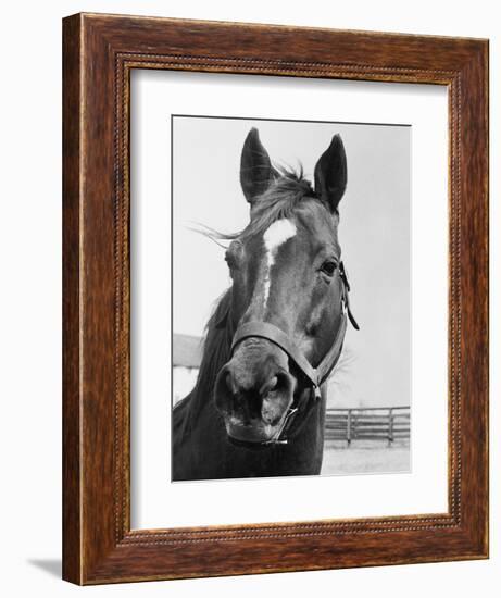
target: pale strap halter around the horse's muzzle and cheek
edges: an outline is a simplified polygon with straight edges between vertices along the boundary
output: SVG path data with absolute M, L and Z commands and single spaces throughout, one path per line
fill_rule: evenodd
M 231 353 L 234 352 L 237 345 L 239 345 L 246 338 L 264 338 L 279 347 L 289 357 L 289 359 L 291 359 L 296 363 L 296 365 L 301 370 L 301 372 L 310 382 L 311 388 L 313 390 L 311 395 L 313 395 L 314 400 L 308 401 L 308 404 L 304 407 L 306 411 L 309 411 L 313 407 L 312 403 L 316 403 L 316 400 L 321 398 L 321 386 L 328 378 L 333 370 L 336 367 L 337 362 L 339 361 L 345 335 L 347 332 L 348 320 L 351 322 L 352 326 L 355 329 L 359 329 L 359 325 L 350 310 L 350 300 L 348 295 L 350 291 L 350 284 L 348 282 L 348 276 L 342 262 L 340 262 L 339 264 L 339 277 L 341 281 L 341 323 L 336 334 L 336 338 L 330 346 L 330 349 L 325 353 L 324 358 L 316 367 L 313 367 L 313 365 L 308 361 L 301 349 L 299 349 L 296 342 L 286 333 L 280 331 L 280 328 L 278 328 L 274 324 L 270 324 L 268 322 L 246 322 L 237 328 L 237 332 L 235 333 L 231 342 Z M 274 437 L 260 444 L 287 444 L 287 432 L 290 429 L 292 421 L 296 419 L 296 415 L 302 408 L 302 406 L 289 408 L 286 416 L 284 418 L 281 426 L 276 432 Z

